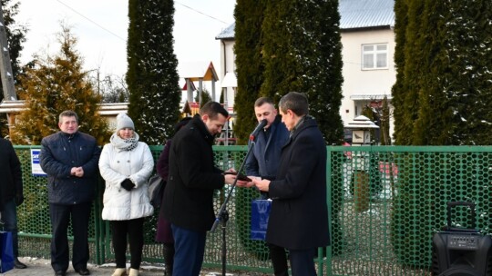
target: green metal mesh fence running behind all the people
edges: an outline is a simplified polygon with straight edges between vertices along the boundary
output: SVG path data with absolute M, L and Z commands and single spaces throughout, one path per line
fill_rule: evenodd
M 31 149 L 15 146 L 23 163 L 26 202 L 18 209 L 21 255 L 49 259 L 51 228 L 46 177 L 31 174 Z M 151 146 L 157 160 L 162 146 Z M 214 147 L 216 163 L 239 169 L 245 146 Z M 328 208 L 333 244 L 319 249 L 318 275 L 430 275 L 431 237 L 446 223 L 446 202 L 477 204 L 477 229 L 490 233 L 492 212 L 492 146 L 328 147 Z M 229 187 L 215 194 L 218 211 Z M 100 220 L 104 182 L 97 186 L 89 229 L 91 260 L 112 261 L 108 222 Z M 226 232 L 228 270 L 272 272 L 264 242 L 249 239 L 253 189 L 237 188 L 228 204 Z M 453 222 L 467 226 L 465 209 Z M 154 242 L 157 212 L 145 223 L 144 261 L 161 262 Z M 205 267 L 220 267 L 222 229 L 209 232 Z

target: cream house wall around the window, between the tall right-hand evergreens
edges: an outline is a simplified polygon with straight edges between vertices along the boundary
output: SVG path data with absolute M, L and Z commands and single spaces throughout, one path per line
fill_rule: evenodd
M 343 122 L 347 123 L 361 114 L 367 102 L 381 100 L 384 95 L 391 99 L 391 89 L 396 81 L 395 32 L 390 28 L 343 32 L 342 44 L 343 100 L 340 115 Z M 386 67 L 363 69 L 363 45 L 369 44 L 387 44 Z M 393 118 L 391 118 L 390 135 L 393 135 L 393 125 Z

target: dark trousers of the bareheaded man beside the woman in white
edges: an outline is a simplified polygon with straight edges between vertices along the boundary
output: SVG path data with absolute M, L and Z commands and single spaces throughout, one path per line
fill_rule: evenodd
M 89 259 L 88 220 L 92 202 L 74 205 L 49 203 L 49 216 L 53 238 L 51 239 L 51 267 L 55 271 L 67 271 L 69 261 L 68 223 L 72 221 L 74 234 L 72 266 L 75 270 L 86 269 Z

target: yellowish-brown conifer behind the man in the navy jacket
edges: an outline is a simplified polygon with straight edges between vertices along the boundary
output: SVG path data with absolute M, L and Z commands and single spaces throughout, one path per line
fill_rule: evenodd
M 37 59 L 36 66 L 21 76 L 18 93 L 26 109 L 16 117 L 14 143 L 39 144 L 44 136 L 56 133 L 58 115 L 65 110 L 77 113 L 81 132 L 93 135 L 99 144 L 108 143 L 108 122 L 97 113 L 100 96 L 82 71 L 77 38 L 62 28 L 60 52 Z

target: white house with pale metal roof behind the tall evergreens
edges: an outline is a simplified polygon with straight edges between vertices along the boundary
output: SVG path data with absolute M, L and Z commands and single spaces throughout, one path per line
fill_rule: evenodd
M 364 105 L 378 107 L 384 96 L 391 103 L 395 84 L 394 0 L 340 0 L 340 29 L 343 44 L 343 123 L 354 120 Z M 220 66 L 225 74 L 234 73 L 234 24 L 216 36 L 220 40 Z M 223 86 L 223 85 L 222 85 Z M 233 106 L 234 89 L 223 87 Z M 391 107 L 391 105 L 390 105 Z M 391 110 L 393 110 L 391 108 Z M 393 135 L 393 118 L 390 135 Z

